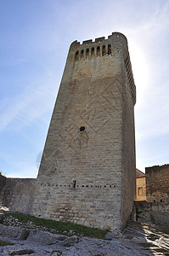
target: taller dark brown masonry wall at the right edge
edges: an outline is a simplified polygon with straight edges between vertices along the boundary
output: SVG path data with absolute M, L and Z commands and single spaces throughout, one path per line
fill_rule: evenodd
M 169 203 L 169 165 L 145 168 L 147 201 Z

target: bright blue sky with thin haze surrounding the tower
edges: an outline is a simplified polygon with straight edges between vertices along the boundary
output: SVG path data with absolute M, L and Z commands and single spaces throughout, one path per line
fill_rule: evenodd
M 0 0 L 0 171 L 37 177 L 70 43 L 122 32 L 137 86 L 137 167 L 169 163 L 169 1 Z

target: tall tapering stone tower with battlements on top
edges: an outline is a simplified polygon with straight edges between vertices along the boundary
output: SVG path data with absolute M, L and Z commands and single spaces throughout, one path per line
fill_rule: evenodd
M 135 194 L 135 102 L 124 35 L 70 45 L 31 214 L 124 227 Z

